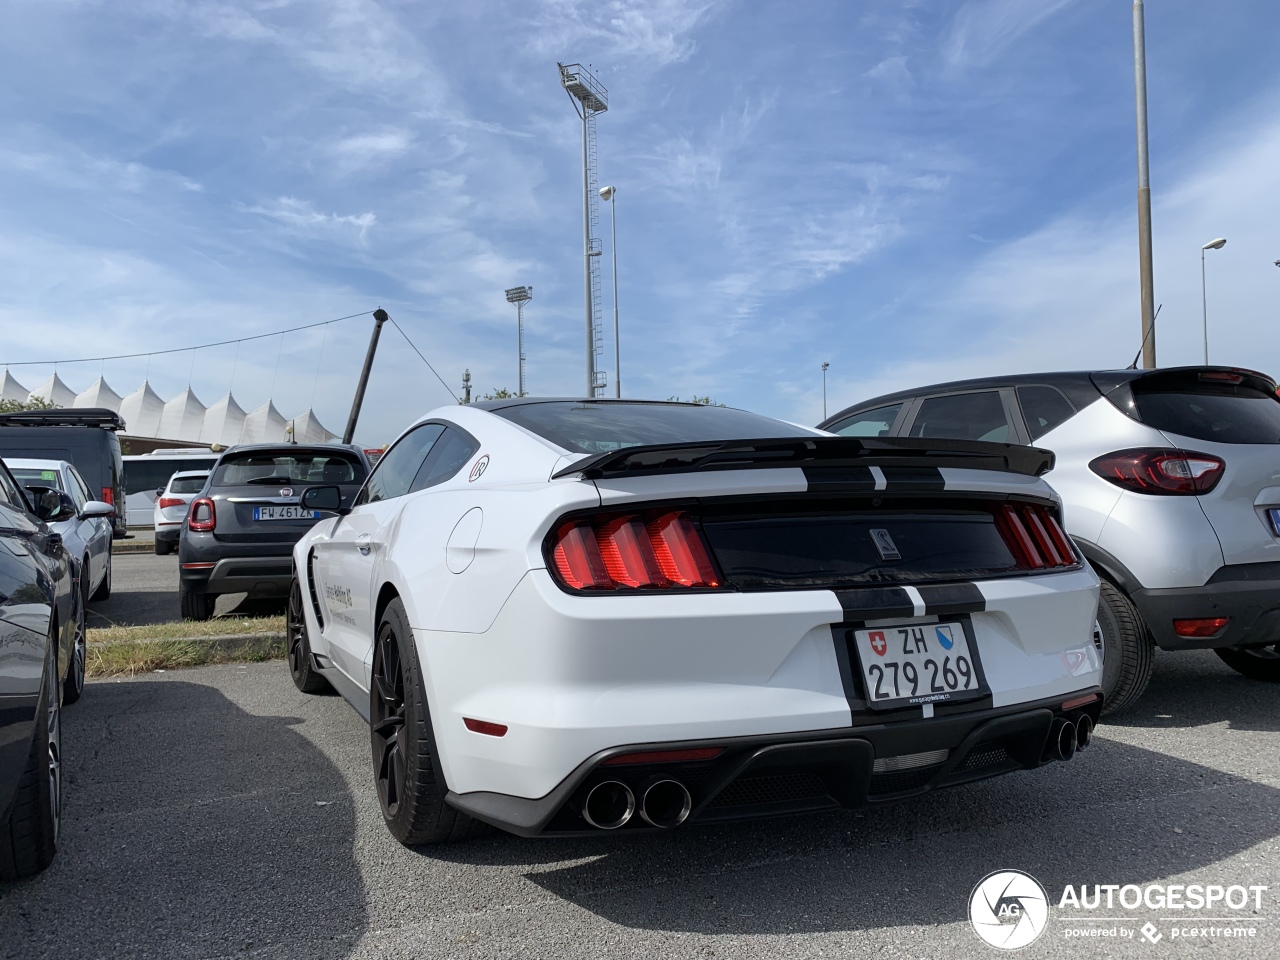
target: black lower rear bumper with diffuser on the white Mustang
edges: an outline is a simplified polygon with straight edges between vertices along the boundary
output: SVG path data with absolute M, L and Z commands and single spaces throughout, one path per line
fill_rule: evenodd
M 582 817 L 598 783 L 620 781 L 635 797 L 646 786 L 675 780 L 691 796 L 690 823 L 776 817 L 902 800 L 1053 760 L 1051 733 L 1059 719 L 1097 722 L 1101 695 L 1071 710 L 1062 704 L 1097 687 L 1034 704 L 799 733 L 639 744 L 602 750 L 536 800 L 494 792 L 448 794 L 451 806 L 520 836 L 596 833 Z M 710 760 L 611 764 L 621 754 L 718 748 Z M 938 760 L 945 753 L 945 759 Z M 936 754 L 931 763 L 906 758 Z M 881 763 L 877 764 L 877 759 Z M 888 758 L 901 758 L 900 769 Z M 905 763 L 904 763 L 905 762 Z M 878 767 L 881 769 L 878 769 Z M 886 769 L 887 767 L 887 769 Z M 632 815 L 626 831 L 655 829 Z

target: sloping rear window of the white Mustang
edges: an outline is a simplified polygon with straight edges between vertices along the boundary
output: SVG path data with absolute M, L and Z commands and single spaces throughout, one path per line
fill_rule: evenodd
M 499 407 L 493 412 L 573 453 L 608 453 L 662 443 L 824 435 L 745 410 L 694 403 L 557 401 Z

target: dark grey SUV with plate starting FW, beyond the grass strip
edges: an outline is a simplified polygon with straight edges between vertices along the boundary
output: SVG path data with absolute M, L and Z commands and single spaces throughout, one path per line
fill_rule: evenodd
M 191 502 L 178 541 L 184 620 L 209 620 L 219 594 L 285 598 L 293 544 L 320 520 L 302 492 L 337 485 L 349 507 L 369 475 L 364 452 L 338 443 L 232 447 Z

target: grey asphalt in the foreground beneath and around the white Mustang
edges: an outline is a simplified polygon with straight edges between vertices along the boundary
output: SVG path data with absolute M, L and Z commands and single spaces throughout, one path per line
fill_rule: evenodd
M 1021 956 L 1276 956 L 1277 694 L 1212 654 L 1164 655 L 1070 764 L 861 813 L 407 850 L 381 824 L 367 730 L 283 663 L 93 682 L 64 716 L 59 855 L 0 888 L 0 955 L 989 957 L 968 897 L 1014 867 L 1051 899 L 1270 887 L 1252 940 L 1068 940 L 1055 911 Z

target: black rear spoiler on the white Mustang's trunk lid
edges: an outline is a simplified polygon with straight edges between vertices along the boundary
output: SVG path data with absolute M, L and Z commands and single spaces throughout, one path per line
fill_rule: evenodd
M 1014 443 L 932 440 L 908 436 L 786 436 L 623 447 L 596 453 L 552 474 L 552 479 L 691 474 L 764 467 L 956 467 L 1043 476 L 1053 452 Z

